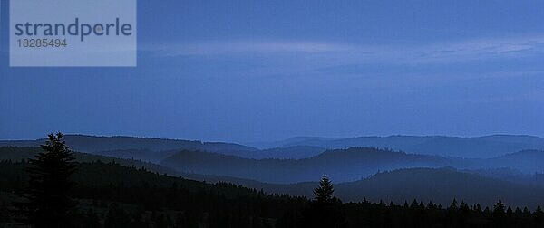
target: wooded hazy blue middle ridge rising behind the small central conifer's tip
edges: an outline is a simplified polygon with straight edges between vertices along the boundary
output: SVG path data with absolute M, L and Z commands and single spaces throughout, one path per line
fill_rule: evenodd
M 470 167 L 471 160 L 406 154 L 375 148 L 349 148 L 325 151 L 304 159 L 249 159 L 183 150 L 160 162 L 183 173 L 233 176 L 267 183 L 313 181 L 316 176 L 336 176 L 336 182 L 354 181 L 379 170 L 403 167 Z

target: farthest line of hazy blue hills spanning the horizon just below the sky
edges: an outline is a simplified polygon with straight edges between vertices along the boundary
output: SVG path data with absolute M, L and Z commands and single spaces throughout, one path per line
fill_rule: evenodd
M 411 154 L 442 157 L 491 158 L 521 150 L 544 149 L 544 138 L 532 136 L 494 135 L 475 138 L 458 137 L 357 137 L 318 138 L 298 137 L 270 143 L 249 144 L 251 147 L 228 142 L 134 137 L 96 137 L 66 135 L 73 150 L 104 156 L 142 159 L 160 162 L 180 150 L 201 150 L 246 158 L 300 159 L 314 157 L 327 149 L 377 147 Z M 0 140 L 0 147 L 38 147 L 44 138 L 36 140 Z M 257 149 L 259 147 L 261 149 Z

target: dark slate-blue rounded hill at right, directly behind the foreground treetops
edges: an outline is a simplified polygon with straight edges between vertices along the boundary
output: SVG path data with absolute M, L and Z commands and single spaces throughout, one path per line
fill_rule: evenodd
M 336 185 L 336 194 L 348 201 L 383 199 L 402 203 L 406 199 L 442 205 L 460 202 L 491 205 L 502 199 L 510 205 L 544 204 L 544 189 L 447 168 L 410 168 L 376 174 L 361 181 Z M 409 201 L 410 202 L 410 201 Z

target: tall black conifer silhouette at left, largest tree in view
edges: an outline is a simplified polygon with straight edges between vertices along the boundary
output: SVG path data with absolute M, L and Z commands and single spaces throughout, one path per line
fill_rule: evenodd
M 30 159 L 25 169 L 30 177 L 26 222 L 33 227 L 66 227 L 74 206 L 69 196 L 74 185 L 69 179 L 75 171 L 73 153 L 60 132 L 49 134 L 40 147 L 44 151 Z

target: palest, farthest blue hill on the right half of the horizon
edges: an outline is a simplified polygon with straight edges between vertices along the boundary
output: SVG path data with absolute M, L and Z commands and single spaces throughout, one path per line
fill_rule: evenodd
M 265 144 L 260 144 L 260 146 Z M 259 145 L 254 145 L 259 146 Z M 272 147 L 313 146 L 324 148 L 379 147 L 408 153 L 447 157 L 498 157 L 525 149 L 544 149 L 544 138 L 532 136 L 494 135 L 475 138 L 460 137 L 357 137 L 357 138 L 288 138 L 268 144 Z

